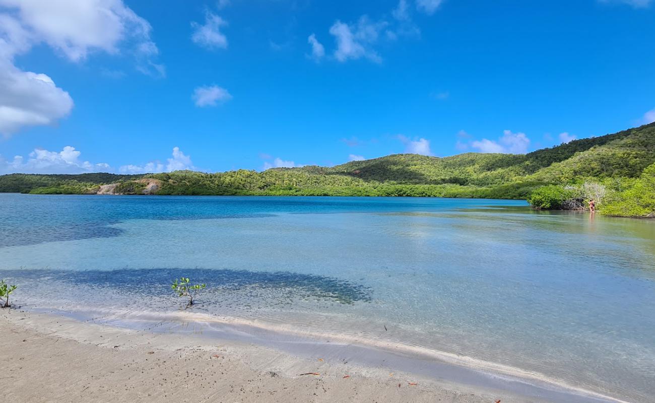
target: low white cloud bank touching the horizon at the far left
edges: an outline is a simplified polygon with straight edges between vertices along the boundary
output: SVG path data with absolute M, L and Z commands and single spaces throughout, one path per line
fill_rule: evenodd
M 75 147 L 67 145 L 59 152 L 34 149 L 27 161 L 21 155 L 16 155 L 11 161 L 0 155 L 0 174 L 83 174 L 111 170 L 109 164 L 80 161 L 80 154 Z

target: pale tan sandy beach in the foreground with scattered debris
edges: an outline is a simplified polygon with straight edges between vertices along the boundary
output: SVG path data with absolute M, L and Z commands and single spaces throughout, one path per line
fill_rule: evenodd
M 266 347 L 17 310 L 0 311 L 0 329 L 7 402 L 527 402 Z M 299 375 L 307 372 L 320 375 Z

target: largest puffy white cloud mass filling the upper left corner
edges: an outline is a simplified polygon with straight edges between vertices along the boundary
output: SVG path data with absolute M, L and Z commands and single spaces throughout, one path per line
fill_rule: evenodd
M 122 0 L 0 0 L 0 133 L 52 125 L 67 116 L 73 100 L 44 73 L 22 71 L 14 58 L 41 43 L 71 62 L 90 52 L 131 49 L 137 69 L 163 75 L 150 39 L 150 24 Z

